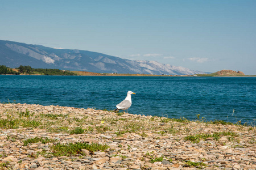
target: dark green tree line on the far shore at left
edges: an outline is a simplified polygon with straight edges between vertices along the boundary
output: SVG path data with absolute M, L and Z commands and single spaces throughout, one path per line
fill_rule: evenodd
M 0 66 L 0 74 L 40 74 L 40 75 L 76 75 L 75 73 L 71 73 L 67 70 L 59 70 L 59 69 L 33 69 L 31 66 L 19 66 L 18 68 L 13 69 Z

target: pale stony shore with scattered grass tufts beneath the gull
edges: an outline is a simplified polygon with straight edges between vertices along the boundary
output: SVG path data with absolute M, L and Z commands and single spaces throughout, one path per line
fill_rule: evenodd
M 57 155 L 56 146 L 79 143 L 105 148 Z M 256 129 L 200 118 L 0 104 L 0 169 L 256 169 Z

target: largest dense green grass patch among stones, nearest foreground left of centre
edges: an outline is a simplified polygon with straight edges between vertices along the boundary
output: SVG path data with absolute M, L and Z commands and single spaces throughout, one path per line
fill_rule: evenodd
M 51 146 L 51 154 L 53 156 L 71 156 L 71 155 L 82 155 L 82 149 L 89 150 L 90 152 L 105 151 L 109 148 L 108 145 L 101 145 L 98 143 L 68 143 Z

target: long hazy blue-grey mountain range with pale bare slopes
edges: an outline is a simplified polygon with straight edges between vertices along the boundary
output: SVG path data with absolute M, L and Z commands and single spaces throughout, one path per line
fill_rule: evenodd
M 156 61 L 130 60 L 77 49 L 56 49 L 43 45 L 0 40 L 0 65 L 33 68 L 130 74 L 204 74 L 181 66 Z

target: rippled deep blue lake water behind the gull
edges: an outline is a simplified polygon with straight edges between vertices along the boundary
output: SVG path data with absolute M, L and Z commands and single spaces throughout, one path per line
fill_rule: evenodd
M 255 124 L 255 88 L 255 77 L 0 75 L 0 102 L 112 110 L 133 91 L 132 114 Z

